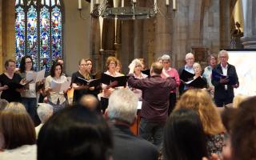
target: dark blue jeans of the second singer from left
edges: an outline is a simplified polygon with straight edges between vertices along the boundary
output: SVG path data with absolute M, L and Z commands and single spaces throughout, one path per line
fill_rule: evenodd
M 25 106 L 27 113 L 34 120 L 37 114 L 37 98 L 22 98 L 22 104 Z

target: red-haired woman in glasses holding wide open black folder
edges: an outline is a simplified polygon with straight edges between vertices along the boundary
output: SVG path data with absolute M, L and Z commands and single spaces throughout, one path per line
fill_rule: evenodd
M 108 74 L 112 77 L 119 77 L 123 76 L 123 74 L 120 74 L 116 72 L 116 66 L 118 65 L 117 59 L 110 56 L 106 59 L 106 72 L 104 74 Z M 106 107 L 108 106 L 108 98 L 110 98 L 110 94 L 114 91 L 114 86 L 116 86 L 118 82 L 114 81 L 111 82 L 109 85 L 102 84 L 102 94 L 101 96 L 101 102 L 102 102 L 102 111 L 103 113 L 106 110 Z M 118 87 L 120 88 L 120 87 Z

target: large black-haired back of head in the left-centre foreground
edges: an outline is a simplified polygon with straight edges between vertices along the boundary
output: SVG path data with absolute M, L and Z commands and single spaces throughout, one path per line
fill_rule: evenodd
M 38 135 L 38 160 L 106 160 L 113 147 L 102 116 L 82 106 L 54 114 Z

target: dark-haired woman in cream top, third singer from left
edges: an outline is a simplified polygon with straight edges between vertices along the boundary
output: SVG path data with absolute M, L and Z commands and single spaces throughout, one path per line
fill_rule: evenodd
M 59 63 L 54 63 L 50 68 L 50 75 L 46 78 L 45 91 L 48 98 L 48 102 L 54 108 L 54 113 L 58 110 L 63 109 L 66 106 L 66 91 L 56 93 L 50 88 L 50 82 L 66 82 L 68 81 L 65 75 L 62 75 L 62 65 Z

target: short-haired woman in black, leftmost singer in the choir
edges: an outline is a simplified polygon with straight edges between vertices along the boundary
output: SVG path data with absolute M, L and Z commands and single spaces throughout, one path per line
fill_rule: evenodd
M 10 83 L 22 83 L 22 77 L 19 74 L 14 73 L 15 61 L 9 59 L 5 63 L 6 72 L 0 75 L 0 91 L 2 91 L 1 98 L 6 99 L 8 102 L 21 102 L 22 89 L 17 89 L 12 86 L 8 86 Z

